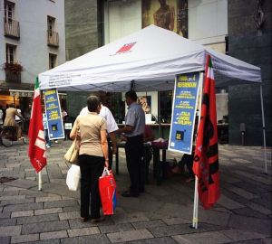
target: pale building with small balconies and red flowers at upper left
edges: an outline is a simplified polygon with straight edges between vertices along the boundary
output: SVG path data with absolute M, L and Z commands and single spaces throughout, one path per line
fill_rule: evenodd
M 1 0 L 0 15 L 0 105 L 24 112 L 35 77 L 65 61 L 64 0 Z

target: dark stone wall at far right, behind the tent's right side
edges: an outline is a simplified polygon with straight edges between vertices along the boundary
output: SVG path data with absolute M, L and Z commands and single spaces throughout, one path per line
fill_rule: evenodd
M 262 70 L 267 145 L 271 145 L 271 1 L 261 9 L 265 22 L 257 29 L 256 0 L 228 0 L 228 53 Z M 246 123 L 245 145 L 263 145 L 259 85 L 228 88 L 229 143 L 241 144 L 240 123 Z

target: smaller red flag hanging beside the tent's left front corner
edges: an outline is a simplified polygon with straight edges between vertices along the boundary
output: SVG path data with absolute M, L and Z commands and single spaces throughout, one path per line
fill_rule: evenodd
M 28 156 L 31 164 L 34 166 L 35 171 L 38 173 L 46 165 L 43 112 L 38 78 L 36 78 L 35 81 L 34 99 L 29 122 L 28 137 Z

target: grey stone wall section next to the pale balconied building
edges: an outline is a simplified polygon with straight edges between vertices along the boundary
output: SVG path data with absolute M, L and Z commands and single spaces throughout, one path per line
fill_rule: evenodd
M 102 1 L 65 0 L 66 61 L 102 46 Z M 69 116 L 86 106 L 90 92 L 67 92 Z

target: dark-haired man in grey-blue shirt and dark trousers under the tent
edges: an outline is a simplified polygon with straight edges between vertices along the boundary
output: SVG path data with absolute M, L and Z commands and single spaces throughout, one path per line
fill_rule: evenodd
M 122 192 L 123 197 L 138 197 L 140 192 L 144 192 L 141 185 L 142 156 L 143 156 L 143 135 L 145 126 L 145 114 L 141 105 L 137 103 L 137 94 L 130 90 L 125 94 L 128 112 L 125 117 L 125 126 L 118 129 L 119 133 L 124 133 L 127 141 L 125 144 L 125 154 L 127 168 L 130 174 L 131 186 L 128 191 Z

